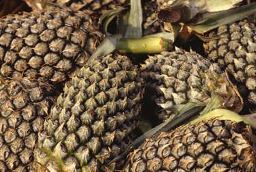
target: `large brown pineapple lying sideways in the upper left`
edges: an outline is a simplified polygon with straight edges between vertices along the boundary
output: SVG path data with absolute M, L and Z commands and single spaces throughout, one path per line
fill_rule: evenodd
M 101 40 L 83 12 L 37 11 L 0 19 L 0 74 L 63 83 L 85 65 Z

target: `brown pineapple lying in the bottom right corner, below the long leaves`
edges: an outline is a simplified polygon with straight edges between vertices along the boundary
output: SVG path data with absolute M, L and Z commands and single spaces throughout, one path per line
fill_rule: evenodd
M 237 115 L 216 109 L 204 120 L 147 139 L 130 153 L 123 171 L 255 171 L 251 128 L 221 119 L 225 114 Z

